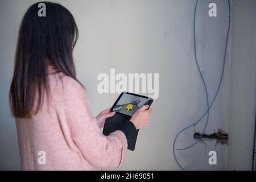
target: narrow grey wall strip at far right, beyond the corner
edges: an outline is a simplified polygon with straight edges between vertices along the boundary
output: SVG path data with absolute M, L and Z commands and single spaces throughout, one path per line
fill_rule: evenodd
M 230 170 L 252 168 L 256 111 L 255 10 L 256 1 L 234 1 L 227 163 Z

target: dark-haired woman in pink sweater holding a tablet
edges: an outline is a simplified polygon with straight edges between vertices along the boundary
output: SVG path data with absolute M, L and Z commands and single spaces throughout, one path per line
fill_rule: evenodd
M 65 7 L 43 3 L 45 17 L 38 16 L 38 3 L 23 17 L 10 88 L 22 169 L 120 167 L 127 139 L 148 125 L 152 110 L 141 107 L 123 129 L 103 135 L 100 128 L 115 113 L 107 109 L 94 117 L 90 111 L 72 57 L 78 38 L 75 20 Z

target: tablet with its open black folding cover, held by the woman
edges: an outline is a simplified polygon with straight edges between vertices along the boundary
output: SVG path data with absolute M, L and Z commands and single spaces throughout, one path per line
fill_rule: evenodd
M 115 111 L 115 115 L 110 118 L 106 118 L 103 134 L 108 136 L 116 130 L 122 129 L 127 122 L 130 121 L 133 114 L 143 105 L 151 105 L 152 98 L 141 96 L 134 93 L 122 92 L 114 105 L 111 107 L 111 111 Z M 139 130 L 127 140 L 128 149 L 134 151 L 137 141 Z

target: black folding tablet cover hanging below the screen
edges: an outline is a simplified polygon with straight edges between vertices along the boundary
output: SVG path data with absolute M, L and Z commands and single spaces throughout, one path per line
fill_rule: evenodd
M 106 118 L 103 134 L 108 136 L 110 133 L 121 129 L 126 124 L 126 122 L 130 121 L 130 119 L 131 117 L 129 117 L 128 115 L 122 115 L 120 113 L 115 113 L 113 117 Z M 131 151 L 134 151 L 135 149 L 138 133 L 139 130 L 137 130 L 133 137 L 131 137 L 130 140 L 127 141 L 128 149 Z

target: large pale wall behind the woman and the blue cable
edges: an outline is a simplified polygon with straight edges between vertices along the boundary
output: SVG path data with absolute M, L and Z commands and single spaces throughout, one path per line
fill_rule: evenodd
M 36 1 L 2 0 L 0 169 L 19 169 L 14 119 L 8 105 L 18 26 L 28 6 Z M 175 135 L 195 122 L 207 108 L 205 93 L 193 55 L 191 0 L 59 1 L 75 16 L 80 31 L 74 56 L 77 76 L 85 85 L 96 115 L 112 106 L 118 94 L 98 94 L 97 75 L 115 68 L 117 73 L 159 73 L 159 98 L 154 101 L 151 124 L 139 131 L 135 151 L 129 151 L 120 169 L 179 169 L 172 153 Z M 217 3 L 217 17 L 209 18 L 208 5 Z M 220 79 L 228 25 L 227 1 L 199 1 L 197 54 L 212 101 Z M 242 46 L 242 45 L 241 45 Z M 230 47 L 220 94 L 210 110 L 207 133 L 228 130 Z M 196 130 L 203 129 L 205 119 Z M 178 139 L 177 147 L 195 140 L 193 129 Z M 177 152 L 185 169 L 225 169 L 226 146 L 208 143 L 216 150 L 217 165 L 208 164 L 205 145 Z

